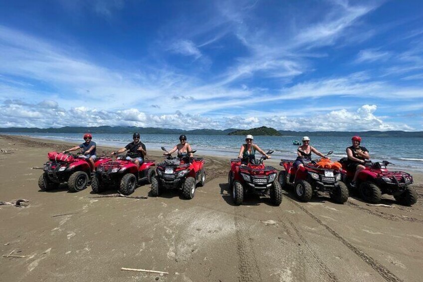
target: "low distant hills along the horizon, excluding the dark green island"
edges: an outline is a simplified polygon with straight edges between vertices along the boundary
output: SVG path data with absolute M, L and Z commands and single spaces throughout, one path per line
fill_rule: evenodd
M 225 130 L 217 129 L 194 129 L 182 130 L 171 128 L 157 128 L 157 127 L 135 127 L 135 126 L 65 126 L 60 128 L 27 128 L 27 127 L 7 127 L 0 128 L 0 132 L 22 132 L 22 133 L 120 133 L 132 134 L 139 132 L 141 134 L 193 134 L 193 135 L 228 135 L 240 129 L 228 128 Z M 253 129 L 251 129 L 253 130 Z M 242 134 L 248 130 L 242 131 Z M 360 135 L 362 137 L 420 137 L 423 138 L 423 131 L 406 132 L 406 131 L 291 131 L 278 130 L 281 135 L 288 136 L 352 136 Z M 239 131 L 238 131 L 239 133 Z

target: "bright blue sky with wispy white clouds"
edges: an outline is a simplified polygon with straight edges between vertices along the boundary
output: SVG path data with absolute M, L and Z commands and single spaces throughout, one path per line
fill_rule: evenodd
M 1 0 L 1 127 L 421 131 L 422 15 L 418 0 Z

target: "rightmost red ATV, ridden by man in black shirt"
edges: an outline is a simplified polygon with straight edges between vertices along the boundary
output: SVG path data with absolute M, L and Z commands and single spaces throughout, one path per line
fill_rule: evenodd
M 387 166 L 392 164 L 388 161 L 372 162 L 366 161 L 364 170 L 357 177 L 355 187 L 351 186 L 351 180 L 355 171 L 347 170 L 348 158 L 342 158 L 340 161 L 345 170 L 344 182 L 350 188 L 350 191 L 359 192 L 361 198 L 369 203 L 379 203 L 382 194 L 393 195 L 398 203 L 411 206 L 417 202 L 418 194 L 414 187 L 413 176 L 402 171 L 389 171 Z

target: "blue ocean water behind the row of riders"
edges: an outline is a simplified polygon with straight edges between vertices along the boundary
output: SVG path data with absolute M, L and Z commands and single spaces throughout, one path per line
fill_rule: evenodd
M 2 133 L 4 134 L 4 133 Z M 75 144 L 83 142 L 82 135 L 76 133 L 9 133 L 10 135 L 25 135 L 36 138 L 67 141 Z M 235 158 L 244 142 L 244 136 L 229 135 L 188 135 L 188 142 L 193 150 L 201 155 L 217 155 Z M 179 143 L 179 135 L 173 134 L 143 134 L 141 141 L 147 150 L 160 150 L 161 146 L 172 149 Z M 294 159 L 298 146 L 292 145 L 293 140 L 301 140 L 302 136 L 255 136 L 254 143 L 264 151 L 274 150 L 273 159 Z M 321 153 L 334 151 L 331 158 L 338 160 L 346 157 L 346 148 L 351 146 L 351 137 L 316 136 L 310 137 L 310 145 Z M 96 133 L 93 141 L 99 146 L 124 147 L 132 142 L 132 134 Z M 387 160 L 395 168 L 423 171 L 423 138 L 387 138 L 365 137 L 361 146 L 369 150 L 373 161 Z

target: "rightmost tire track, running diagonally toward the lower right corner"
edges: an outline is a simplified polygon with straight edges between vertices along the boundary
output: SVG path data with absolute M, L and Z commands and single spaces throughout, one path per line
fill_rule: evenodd
M 374 269 L 379 275 L 381 275 L 386 281 L 388 282 L 403 282 L 402 279 L 397 277 L 393 274 L 389 269 L 385 268 L 383 265 L 378 263 L 375 259 L 371 256 L 367 255 L 365 252 L 360 250 L 359 248 L 355 247 L 353 244 L 345 240 L 338 232 L 334 229 L 330 228 L 328 225 L 324 224 L 320 219 L 318 219 L 315 215 L 307 211 L 306 208 L 298 204 L 289 197 L 286 197 L 291 203 L 301 209 L 304 213 L 306 213 L 309 217 L 314 219 L 318 224 L 323 226 L 330 234 L 332 234 L 336 239 L 338 239 L 342 244 L 344 244 L 348 249 L 350 249 L 353 253 L 355 253 L 360 259 L 362 259 L 366 264 L 368 264 L 372 269 Z

